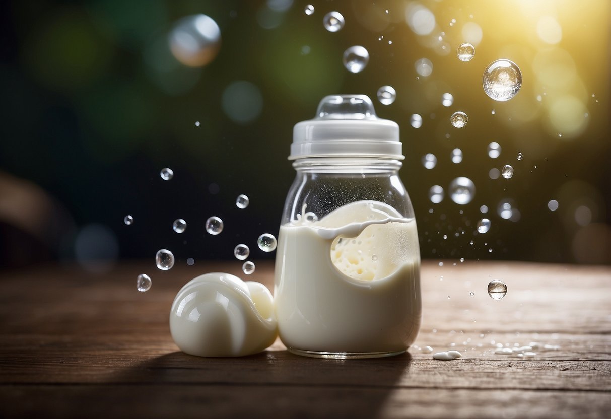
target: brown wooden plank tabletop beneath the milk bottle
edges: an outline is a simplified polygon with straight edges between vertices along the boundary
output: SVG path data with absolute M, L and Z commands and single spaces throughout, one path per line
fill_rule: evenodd
M 0 417 L 611 417 L 610 267 L 425 263 L 422 329 L 397 357 L 310 359 L 280 341 L 242 358 L 179 352 L 175 293 L 240 266 L 2 272 Z M 147 293 L 135 288 L 142 272 L 153 277 Z M 258 263 L 252 279 L 273 288 L 273 266 Z M 507 283 L 502 300 L 486 293 L 492 279 Z M 531 341 L 560 348 L 532 360 L 493 353 Z M 463 357 L 433 360 L 426 345 Z

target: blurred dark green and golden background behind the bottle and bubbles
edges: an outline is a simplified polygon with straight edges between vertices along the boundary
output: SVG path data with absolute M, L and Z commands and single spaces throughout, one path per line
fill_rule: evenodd
M 292 127 L 332 93 L 367 94 L 380 117 L 400 125 L 401 177 L 423 258 L 611 263 L 608 1 L 15 0 L 0 8 L 2 266 L 76 259 L 104 271 L 161 248 L 197 263 L 231 259 L 239 242 L 251 258 L 273 257 L 255 242 L 278 231 L 295 175 Z M 340 31 L 323 26 L 331 11 L 345 19 Z M 197 20 L 202 14 L 210 20 Z M 469 62 L 456 56 L 463 42 L 475 46 Z M 360 73 L 342 64 L 353 45 L 370 54 Z M 423 58 L 429 75 L 419 74 Z M 522 71 L 507 102 L 482 89 L 496 59 Z M 389 105 L 376 99 L 386 85 L 397 92 Z M 464 128 L 450 124 L 456 111 L 469 117 Z M 497 158 L 490 142 L 501 147 Z M 427 153 L 433 169 L 423 166 Z M 498 175 L 505 164 L 510 179 Z M 172 180 L 161 179 L 163 167 Z M 475 183 L 468 205 L 448 196 L 458 176 Z M 429 198 L 434 185 L 445 191 L 439 203 Z M 251 200 L 245 210 L 239 194 Z M 221 235 L 205 233 L 212 215 L 224 220 Z M 172 231 L 178 217 L 185 233 Z M 491 220 L 483 235 L 481 217 Z

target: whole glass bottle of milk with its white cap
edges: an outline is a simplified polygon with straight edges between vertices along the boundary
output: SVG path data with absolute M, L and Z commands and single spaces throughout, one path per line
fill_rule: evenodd
M 420 249 L 397 123 L 365 95 L 323 98 L 293 129 L 278 237 L 280 338 L 299 355 L 384 357 L 418 333 Z

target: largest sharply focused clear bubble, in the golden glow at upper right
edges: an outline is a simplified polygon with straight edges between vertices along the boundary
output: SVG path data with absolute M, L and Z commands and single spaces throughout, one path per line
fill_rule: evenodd
M 522 73 L 514 62 L 496 60 L 484 70 L 483 85 L 486 95 L 504 102 L 513 98 L 522 87 Z

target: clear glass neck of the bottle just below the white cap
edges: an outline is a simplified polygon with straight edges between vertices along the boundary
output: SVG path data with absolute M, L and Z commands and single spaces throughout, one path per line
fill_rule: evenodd
M 403 163 L 379 157 L 310 157 L 296 159 L 293 167 L 302 173 L 397 173 Z

